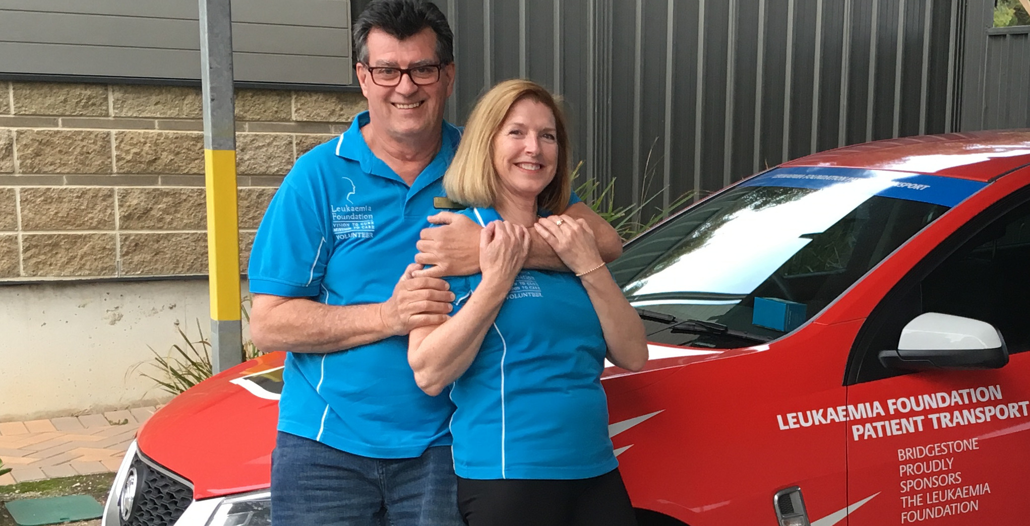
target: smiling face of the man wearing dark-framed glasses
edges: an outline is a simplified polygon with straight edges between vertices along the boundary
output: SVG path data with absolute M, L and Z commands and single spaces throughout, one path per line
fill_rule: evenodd
M 367 41 L 369 66 L 409 69 L 440 64 L 437 58 L 437 34 L 425 28 L 404 40 L 385 31 L 373 29 Z M 401 139 L 439 132 L 444 117 L 444 103 L 454 86 L 454 65 L 444 66 L 440 80 L 417 85 L 404 74 L 392 87 L 378 85 L 365 64 L 357 64 L 357 80 L 369 100 L 369 115 L 377 129 Z

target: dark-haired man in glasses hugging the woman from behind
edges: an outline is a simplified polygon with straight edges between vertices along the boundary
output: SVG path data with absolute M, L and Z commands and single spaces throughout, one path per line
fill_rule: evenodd
M 444 122 L 452 34 L 422 0 L 373 0 L 353 27 L 369 110 L 297 161 L 258 231 L 250 330 L 290 351 L 272 457 L 273 524 L 459 525 L 447 424 L 453 406 L 415 384 L 407 335 L 446 320 L 453 294 L 415 276 L 416 242 L 443 196 L 460 132 Z M 582 203 L 605 255 L 614 230 Z M 453 214 L 419 259 L 478 270 L 478 226 Z M 471 222 L 471 221 L 469 221 Z M 473 240 L 469 243 L 469 240 Z M 446 245 L 446 246 L 442 246 Z M 446 249 L 446 251 L 445 251 Z M 561 269 L 539 237 L 527 266 Z

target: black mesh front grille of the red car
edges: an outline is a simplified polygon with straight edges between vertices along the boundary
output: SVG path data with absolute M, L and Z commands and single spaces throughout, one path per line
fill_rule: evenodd
M 193 502 L 193 488 L 156 469 L 140 457 L 133 459 L 139 487 L 124 526 L 171 526 Z

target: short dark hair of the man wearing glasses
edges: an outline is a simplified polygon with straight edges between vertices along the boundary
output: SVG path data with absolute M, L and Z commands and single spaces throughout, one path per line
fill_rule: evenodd
M 427 0 L 372 0 L 354 22 L 354 57 L 368 64 L 369 33 L 373 29 L 404 40 L 430 28 L 437 34 L 437 60 L 440 64 L 454 62 L 454 34 L 447 17 Z

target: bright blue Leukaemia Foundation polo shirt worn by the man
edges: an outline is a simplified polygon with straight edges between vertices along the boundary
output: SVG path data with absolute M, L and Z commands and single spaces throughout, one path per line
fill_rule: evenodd
M 460 138 L 443 124 L 440 152 L 410 187 L 369 149 L 358 114 L 340 136 L 297 160 L 276 191 L 250 253 L 250 291 L 327 305 L 385 302 L 414 261 L 419 232 L 443 196 Z M 408 338 L 329 354 L 288 353 L 279 430 L 377 458 L 450 444 L 454 406 L 430 396 L 408 365 Z

